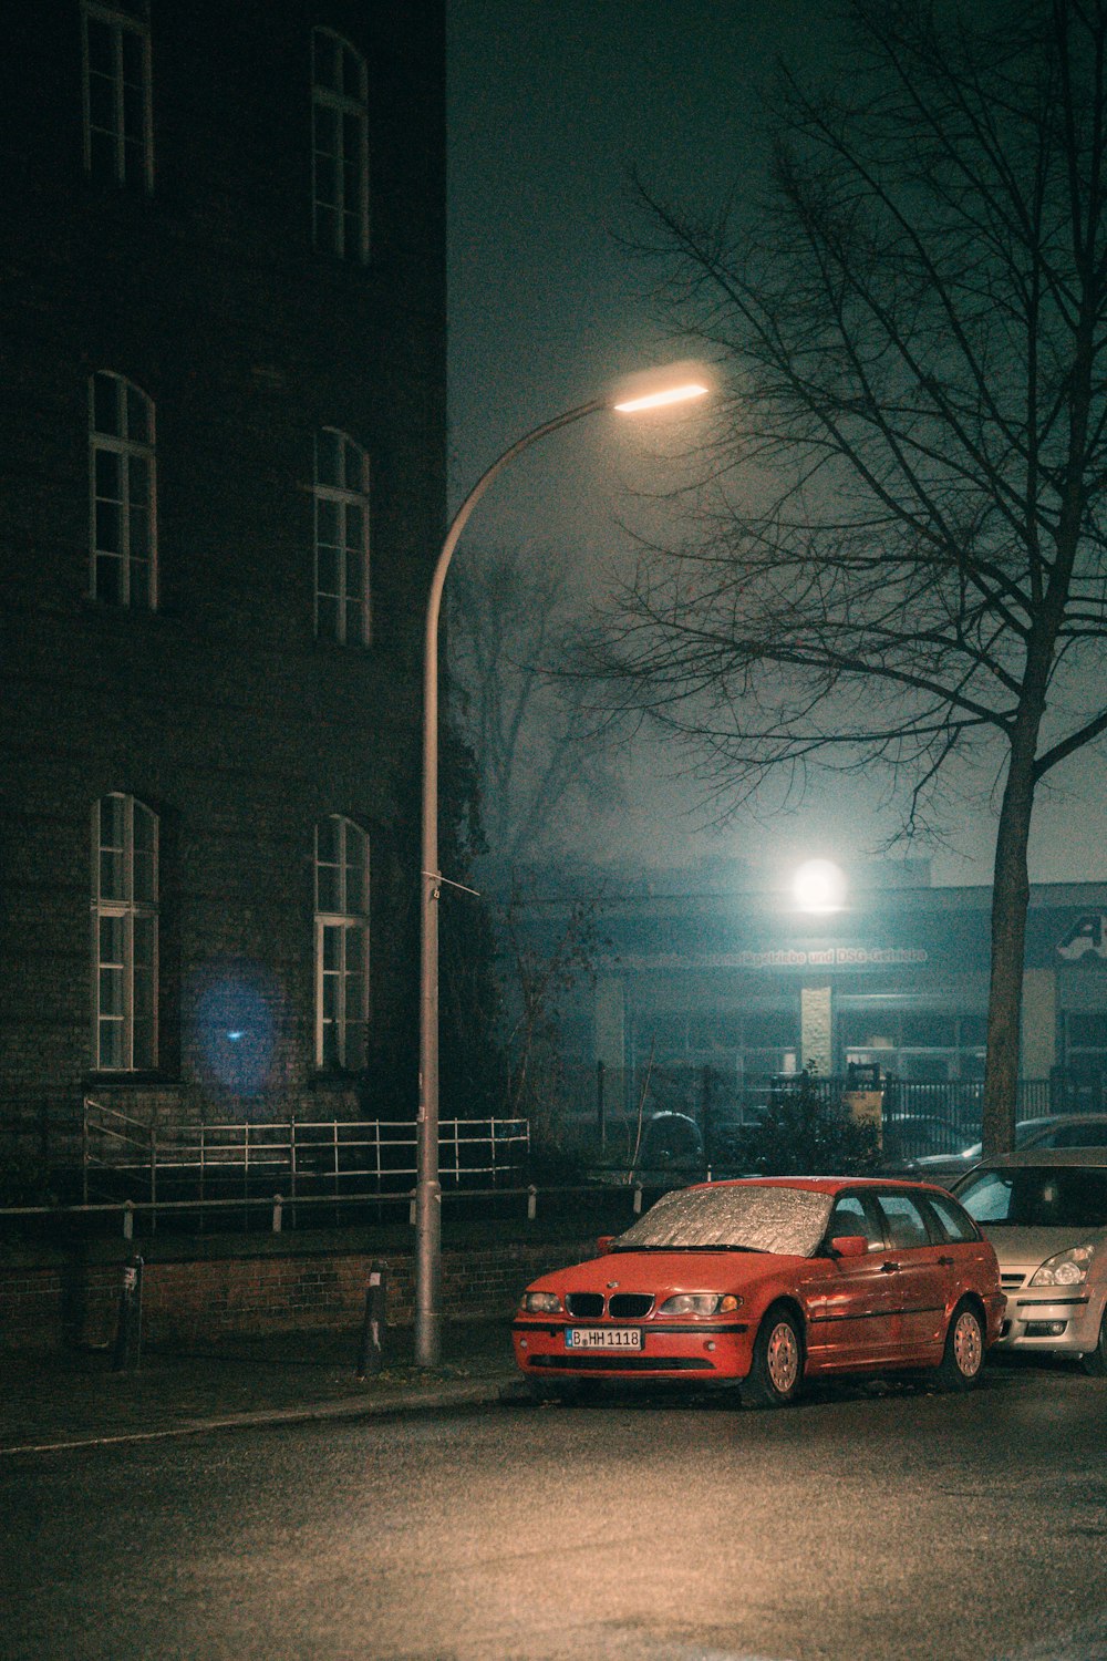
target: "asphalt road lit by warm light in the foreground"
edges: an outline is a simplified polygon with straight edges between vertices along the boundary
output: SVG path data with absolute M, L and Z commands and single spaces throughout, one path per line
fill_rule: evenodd
M 1074 1369 L 22 1455 L 0 1516 L 5 1661 L 1107 1661 Z

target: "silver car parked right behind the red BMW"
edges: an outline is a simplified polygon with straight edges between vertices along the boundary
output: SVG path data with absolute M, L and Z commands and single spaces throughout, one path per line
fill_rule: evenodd
M 1107 1149 L 997 1154 L 954 1193 L 999 1259 L 996 1352 L 1080 1355 L 1107 1377 Z

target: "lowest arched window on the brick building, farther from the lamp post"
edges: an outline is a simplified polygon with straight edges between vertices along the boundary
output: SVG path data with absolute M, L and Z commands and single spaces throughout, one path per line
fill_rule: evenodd
M 158 816 L 111 792 L 93 806 L 93 1066 L 158 1065 Z

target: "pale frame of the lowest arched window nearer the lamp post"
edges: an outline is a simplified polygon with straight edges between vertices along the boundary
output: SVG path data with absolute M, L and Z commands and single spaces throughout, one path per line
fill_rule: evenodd
M 337 860 L 320 860 L 319 852 L 319 832 L 324 824 L 334 826 L 339 837 L 339 857 Z M 362 889 L 362 910 L 354 910 L 349 905 L 347 892 L 347 872 L 354 867 L 355 860 L 350 857 L 350 844 L 354 850 L 360 855 L 357 864 L 360 865 L 360 889 Z M 339 892 L 335 899 L 337 907 L 324 909 L 320 905 L 320 870 L 335 870 L 339 874 Z M 370 967 L 370 837 L 358 824 L 349 819 L 345 814 L 324 814 L 322 819 L 315 821 L 314 827 L 314 990 L 315 990 L 315 1066 L 320 1071 L 339 1071 L 339 1073 L 360 1073 L 367 1065 L 368 1055 L 368 1018 L 370 1018 L 370 997 L 368 997 L 368 967 Z M 325 945 L 329 932 L 339 942 L 339 967 L 335 970 L 327 968 Z M 352 940 L 358 940 L 358 963 L 350 967 L 349 947 Z M 350 1012 L 347 1007 L 350 980 L 354 975 L 360 977 L 360 1008 Z M 337 988 L 335 995 L 335 1013 L 332 1018 L 327 1017 L 327 1000 L 324 997 L 327 977 L 334 978 Z M 360 1028 L 360 1055 L 352 1055 L 350 1038 L 352 1030 Z M 335 1041 L 334 1046 L 329 1041 L 329 1028 L 334 1028 Z

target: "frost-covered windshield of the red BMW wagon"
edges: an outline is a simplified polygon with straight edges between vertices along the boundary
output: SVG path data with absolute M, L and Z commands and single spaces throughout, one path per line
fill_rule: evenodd
M 803 1188 L 687 1188 L 664 1194 L 614 1246 L 744 1246 L 810 1257 L 830 1219 L 831 1194 Z

